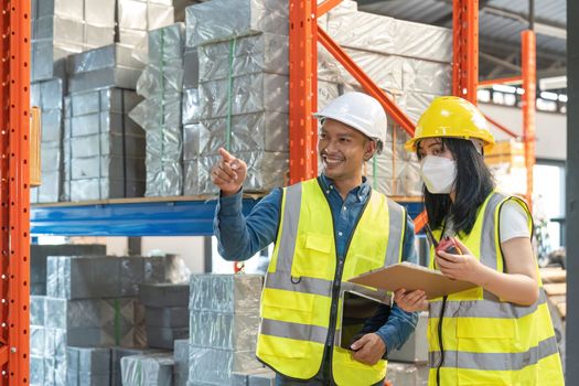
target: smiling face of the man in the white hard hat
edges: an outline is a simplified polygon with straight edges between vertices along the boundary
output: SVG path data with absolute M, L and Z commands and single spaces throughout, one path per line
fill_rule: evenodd
M 324 174 L 334 180 L 362 178 L 364 160 L 372 157 L 375 142 L 337 120 L 325 119 L 320 130 L 318 153 Z

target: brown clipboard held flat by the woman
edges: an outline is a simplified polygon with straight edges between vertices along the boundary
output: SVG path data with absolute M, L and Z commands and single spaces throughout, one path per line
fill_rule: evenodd
M 407 261 L 362 274 L 349 281 L 393 292 L 400 288 L 407 291 L 423 290 L 428 299 L 478 287 L 472 282 L 453 280 L 442 272 Z

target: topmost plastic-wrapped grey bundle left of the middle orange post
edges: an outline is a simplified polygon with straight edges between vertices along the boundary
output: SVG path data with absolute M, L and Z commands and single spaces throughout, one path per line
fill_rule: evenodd
M 259 32 L 287 36 L 288 20 L 289 3 L 285 0 L 213 0 L 194 4 L 185 9 L 186 45 L 195 47 Z

